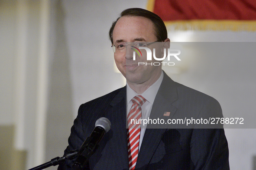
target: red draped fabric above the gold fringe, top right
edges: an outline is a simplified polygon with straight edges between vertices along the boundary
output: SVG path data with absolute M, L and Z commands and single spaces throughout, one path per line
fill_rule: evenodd
M 155 0 L 153 12 L 164 21 L 256 20 L 256 0 Z

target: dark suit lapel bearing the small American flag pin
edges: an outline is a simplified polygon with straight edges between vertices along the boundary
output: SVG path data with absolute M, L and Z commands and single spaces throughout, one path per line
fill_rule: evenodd
M 163 119 L 166 124 L 147 125 L 143 142 L 140 147 L 136 169 L 150 163 L 150 160 L 162 139 L 162 134 L 168 128 L 167 120 L 171 119 L 177 110 L 177 108 L 172 105 L 177 99 L 178 96 L 175 82 L 173 82 L 164 72 L 164 78 L 153 103 L 149 119 L 159 119 L 159 121 Z

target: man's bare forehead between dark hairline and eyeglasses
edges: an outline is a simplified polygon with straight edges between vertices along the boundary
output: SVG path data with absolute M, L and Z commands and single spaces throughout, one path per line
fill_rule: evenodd
M 138 38 L 148 42 L 156 41 L 153 22 L 141 16 L 121 17 L 113 29 L 113 42 L 133 42 Z

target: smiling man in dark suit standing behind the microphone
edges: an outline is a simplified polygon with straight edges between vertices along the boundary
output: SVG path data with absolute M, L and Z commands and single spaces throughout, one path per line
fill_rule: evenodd
M 110 40 L 117 68 L 126 77 L 126 87 L 80 106 L 65 153 L 79 149 L 94 129 L 95 121 L 106 117 L 111 129 L 86 169 L 228 170 L 224 129 L 194 129 L 197 126 L 174 129 L 168 124 L 157 128 L 148 124 L 147 129 L 139 124 L 139 128 L 130 128 L 131 117 L 165 121 L 180 117 L 222 117 L 214 98 L 173 82 L 161 65 L 138 65 L 145 61 L 145 51 L 141 50 L 141 56 L 136 54 L 133 60 L 131 47 L 157 46 L 158 42 L 169 47 L 162 19 L 145 9 L 126 9 L 113 22 Z M 73 163 L 74 160 L 66 161 L 58 169 L 71 169 Z

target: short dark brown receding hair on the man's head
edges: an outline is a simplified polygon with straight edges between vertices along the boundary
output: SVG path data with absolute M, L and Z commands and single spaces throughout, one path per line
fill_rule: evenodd
M 146 9 L 129 8 L 129 9 L 123 10 L 123 12 L 117 18 L 117 20 L 114 21 L 110 27 L 109 38 L 112 44 L 113 44 L 113 30 L 115 28 L 115 25 L 118 19 L 120 19 L 122 16 L 142 16 L 147 19 L 150 19 L 155 26 L 155 35 L 156 35 L 157 41 L 165 41 L 165 39 L 167 38 L 167 30 L 165 27 L 165 23 L 158 15 Z

